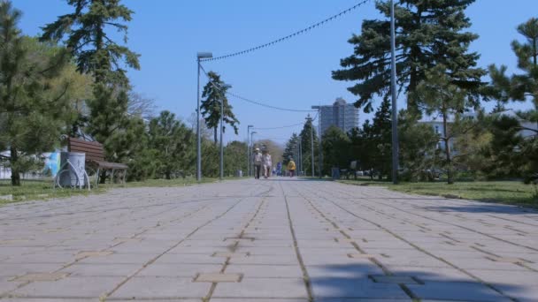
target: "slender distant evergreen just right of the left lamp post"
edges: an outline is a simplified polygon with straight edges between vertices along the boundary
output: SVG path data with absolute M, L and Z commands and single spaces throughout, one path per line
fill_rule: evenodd
M 227 87 L 224 87 L 224 82 L 220 79 L 219 74 L 216 72 L 208 72 L 207 76 L 209 77 L 209 82 L 204 87 L 202 97 L 205 98 L 205 100 L 202 100 L 200 109 L 202 110 L 205 124 L 208 128 L 213 129 L 213 140 L 215 141 L 215 144 L 217 144 L 221 102 L 224 102 L 224 124 L 232 126 L 235 134 L 238 133 L 237 125 L 239 124 L 239 120 L 235 118 L 234 112 L 232 111 L 233 107 L 228 102 L 226 97 Z M 223 132 L 226 132 L 226 126 L 223 127 Z

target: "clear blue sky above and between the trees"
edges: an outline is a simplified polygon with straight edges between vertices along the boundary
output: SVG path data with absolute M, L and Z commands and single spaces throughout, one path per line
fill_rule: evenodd
M 142 55 L 141 71 L 129 72 L 135 91 L 155 99 L 158 109 L 168 109 L 184 120 L 196 109 L 196 52 L 214 56 L 248 49 L 295 32 L 334 13 L 357 4 L 357 0 L 124 0 L 135 11 L 129 24 L 128 47 Z M 20 23 L 25 34 L 40 34 L 40 26 L 72 11 L 65 0 L 14 0 L 23 11 Z M 519 39 L 516 26 L 538 17 L 537 0 L 478 0 L 467 11 L 480 34 L 472 49 L 481 54 L 480 66 L 506 64 L 516 72 L 510 43 Z M 347 42 L 360 33 L 363 19 L 379 18 L 371 1 L 308 34 L 298 35 L 268 49 L 204 63 L 207 71 L 221 74 L 231 92 L 260 102 L 293 109 L 330 104 L 342 96 L 355 100 L 346 87 L 334 81 L 331 71 L 352 53 Z M 202 78 L 202 85 L 205 83 Z M 241 121 L 239 136 L 227 133 L 226 140 L 245 140 L 247 125 L 278 127 L 304 121 L 306 114 L 257 107 L 230 98 Z M 401 103 L 399 106 L 403 106 Z M 487 107 L 491 107 L 487 105 Z M 511 105 L 530 108 L 530 104 Z M 362 122 L 367 118 L 361 115 Z M 300 127 L 260 130 L 257 138 L 285 142 Z

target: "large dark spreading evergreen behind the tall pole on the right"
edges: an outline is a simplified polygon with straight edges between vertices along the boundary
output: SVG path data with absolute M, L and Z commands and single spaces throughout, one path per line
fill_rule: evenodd
M 396 4 L 396 77 L 399 90 L 407 93 L 407 106 L 419 111 L 412 92 L 426 71 L 437 64 L 446 66 L 450 81 L 465 87 L 476 96 L 480 77 L 485 71 L 476 68 L 479 55 L 469 52 L 469 45 L 478 35 L 465 32 L 471 26 L 465 9 L 474 0 L 400 0 Z M 387 18 L 390 2 L 376 3 Z M 348 90 L 358 95 L 357 107 L 365 112 L 373 109 L 375 95 L 386 96 L 390 87 L 390 22 L 388 19 L 363 21 L 360 35 L 353 34 L 349 42 L 355 51 L 341 60 L 342 70 L 334 71 L 337 80 L 359 81 Z

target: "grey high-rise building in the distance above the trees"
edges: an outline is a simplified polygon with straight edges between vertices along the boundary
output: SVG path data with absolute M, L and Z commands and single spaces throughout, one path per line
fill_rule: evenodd
M 337 98 L 332 105 L 313 108 L 319 108 L 321 134 L 325 133 L 331 125 L 337 126 L 346 133 L 358 127 L 358 109 L 341 97 Z

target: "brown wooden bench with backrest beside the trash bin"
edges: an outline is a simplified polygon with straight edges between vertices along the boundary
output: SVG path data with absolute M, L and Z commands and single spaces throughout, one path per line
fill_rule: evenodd
M 111 171 L 111 180 L 114 178 L 116 171 L 122 172 L 122 182 L 125 184 L 127 175 L 127 164 L 119 162 L 105 162 L 103 145 L 96 141 L 80 140 L 69 138 L 67 141 L 67 150 L 69 152 L 80 152 L 86 154 L 86 166 L 96 170 L 96 186 L 99 184 L 99 177 L 102 171 Z M 90 174 L 90 173 L 88 173 Z

